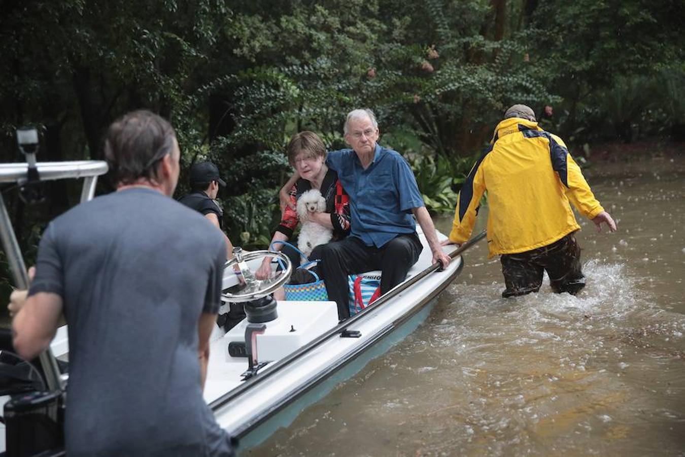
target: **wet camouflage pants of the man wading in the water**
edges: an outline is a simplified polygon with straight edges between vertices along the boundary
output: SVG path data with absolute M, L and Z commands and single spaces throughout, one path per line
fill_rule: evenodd
M 585 277 L 580 271 L 580 246 L 572 233 L 551 245 L 518 254 L 502 254 L 499 260 L 507 286 L 502 297 L 539 291 L 543 271 L 547 271 L 555 293 L 575 295 L 585 286 Z

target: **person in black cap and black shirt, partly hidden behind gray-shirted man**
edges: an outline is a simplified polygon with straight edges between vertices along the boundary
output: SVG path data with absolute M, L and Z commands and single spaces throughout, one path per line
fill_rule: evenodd
M 227 257 L 233 258 L 233 245 L 223 232 L 223 210 L 216 203 L 219 186 L 225 187 L 226 182 L 219 176 L 219 169 L 212 162 L 198 162 L 190 167 L 190 188 L 188 195 L 179 199 L 180 203 L 199 211 L 221 230 L 226 240 Z

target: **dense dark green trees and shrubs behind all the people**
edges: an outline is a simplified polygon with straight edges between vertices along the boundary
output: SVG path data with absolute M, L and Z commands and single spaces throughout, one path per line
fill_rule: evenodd
M 1 9 L 0 160 L 19 159 L 14 129 L 26 124 L 42 126 L 40 160 L 99 158 L 108 124 L 149 108 L 177 129 L 182 183 L 199 158 L 220 165 L 236 244 L 269 236 L 288 138 L 312 129 L 343 147 L 352 108 L 375 110 L 381 142 L 406 155 L 438 212 L 453 208 L 512 103 L 577 146 L 682 137 L 685 125 L 677 0 L 4 0 Z M 77 198 L 54 184 L 26 214 L 15 194 L 4 193 L 29 248 L 45 217 Z

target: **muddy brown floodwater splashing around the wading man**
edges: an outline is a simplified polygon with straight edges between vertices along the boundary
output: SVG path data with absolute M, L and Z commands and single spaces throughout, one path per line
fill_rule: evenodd
M 419 329 L 243 454 L 685 455 L 685 160 L 586 176 L 619 231 L 578 218 L 578 297 L 502 299 L 481 243 Z

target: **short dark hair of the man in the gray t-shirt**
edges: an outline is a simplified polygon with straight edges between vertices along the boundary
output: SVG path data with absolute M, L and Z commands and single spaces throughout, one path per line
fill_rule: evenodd
M 159 162 L 173 151 L 176 134 L 169 121 L 147 111 L 124 114 L 105 136 L 105 160 L 112 182 L 132 184 L 145 179 L 156 182 Z

